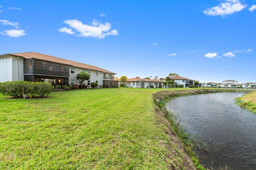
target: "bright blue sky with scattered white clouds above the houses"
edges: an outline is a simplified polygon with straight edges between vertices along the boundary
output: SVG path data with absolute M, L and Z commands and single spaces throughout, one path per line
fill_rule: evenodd
M 25 51 L 118 77 L 255 82 L 256 0 L 0 0 L 0 54 Z

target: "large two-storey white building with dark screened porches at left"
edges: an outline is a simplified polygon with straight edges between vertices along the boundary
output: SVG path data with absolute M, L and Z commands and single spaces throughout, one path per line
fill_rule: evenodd
M 90 80 L 84 81 L 85 85 L 97 82 L 103 87 L 118 87 L 118 81 L 114 80 L 116 73 L 42 53 L 3 54 L 0 55 L 0 65 L 0 82 L 24 80 L 43 81 L 52 83 L 52 85 L 74 85 L 79 84 L 76 75 L 85 70 L 91 74 Z

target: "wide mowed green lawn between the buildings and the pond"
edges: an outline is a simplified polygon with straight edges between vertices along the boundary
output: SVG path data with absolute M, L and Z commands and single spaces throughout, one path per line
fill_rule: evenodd
M 45 99 L 0 95 L 0 169 L 182 168 L 183 152 L 170 143 L 152 102 L 162 90 L 80 89 Z

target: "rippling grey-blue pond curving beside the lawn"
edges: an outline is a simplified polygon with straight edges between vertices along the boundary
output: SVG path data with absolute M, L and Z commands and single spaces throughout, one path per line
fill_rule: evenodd
M 197 155 L 205 167 L 256 169 L 256 114 L 234 103 L 243 93 L 177 97 L 166 108 L 207 151 Z

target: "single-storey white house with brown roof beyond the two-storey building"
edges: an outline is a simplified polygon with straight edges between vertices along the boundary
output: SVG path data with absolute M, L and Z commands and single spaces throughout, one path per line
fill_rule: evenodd
M 140 78 L 132 78 L 126 80 L 126 87 L 133 88 L 158 88 L 163 87 L 162 80 L 152 80 L 152 79 L 140 79 Z

